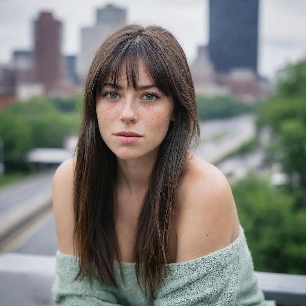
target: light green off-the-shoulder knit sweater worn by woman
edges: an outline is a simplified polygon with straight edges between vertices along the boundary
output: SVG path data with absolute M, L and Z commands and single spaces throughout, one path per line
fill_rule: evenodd
M 77 261 L 76 261 L 77 260 Z M 55 305 L 62 306 L 230 306 L 276 305 L 265 300 L 259 289 L 251 253 L 240 225 L 240 234 L 230 245 L 208 255 L 181 263 L 170 263 L 173 277 L 167 276 L 154 299 L 146 298 L 137 283 L 134 263 L 122 263 L 124 285 L 119 262 L 113 266 L 119 289 L 94 278 L 73 281 L 79 258 L 56 252 L 56 274 L 52 284 Z

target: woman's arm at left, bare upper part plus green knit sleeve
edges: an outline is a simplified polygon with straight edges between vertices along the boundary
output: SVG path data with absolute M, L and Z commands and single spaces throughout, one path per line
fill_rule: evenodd
M 52 184 L 52 204 L 58 240 L 56 274 L 52 284 L 55 305 L 120 306 L 111 289 L 95 282 L 92 289 L 87 278 L 76 280 L 79 265 L 73 253 L 73 169 L 74 159 L 63 162 L 56 170 Z

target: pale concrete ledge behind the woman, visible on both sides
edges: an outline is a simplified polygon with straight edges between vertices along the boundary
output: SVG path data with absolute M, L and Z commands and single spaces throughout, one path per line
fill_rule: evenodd
M 306 306 L 306 275 L 255 272 L 267 300 L 277 305 Z M 55 256 L 0 254 L 1 306 L 54 306 L 51 285 Z

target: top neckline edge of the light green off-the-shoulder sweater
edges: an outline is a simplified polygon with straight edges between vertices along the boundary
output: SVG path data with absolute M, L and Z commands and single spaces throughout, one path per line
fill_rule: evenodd
M 190 265 L 194 265 L 195 263 L 198 263 L 198 262 L 206 261 L 206 259 L 211 259 L 211 258 L 218 257 L 218 256 L 222 256 L 222 258 L 224 259 L 223 260 L 224 263 L 227 262 L 228 260 L 231 260 L 232 259 L 232 254 L 233 254 L 233 252 L 235 252 L 236 246 L 238 244 L 240 244 L 240 242 L 244 238 L 244 229 L 241 226 L 241 224 L 239 224 L 239 228 L 240 228 L 240 232 L 239 232 L 237 238 L 234 241 L 232 241 L 228 246 L 226 246 L 222 249 L 216 250 L 214 252 L 211 252 L 209 254 L 206 254 L 206 255 L 203 255 L 203 256 L 200 256 L 200 257 L 197 257 L 197 258 L 194 258 L 194 259 L 190 259 L 188 261 L 182 261 L 182 262 L 179 262 L 179 263 L 169 263 L 168 264 L 169 267 L 177 268 L 177 267 L 181 267 L 181 266 L 190 266 Z M 56 251 L 56 257 L 59 257 L 59 256 L 66 257 L 66 258 L 73 258 L 73 259 L 77 258 L 77 259 L 79 259 L 78 257 L 75 257 L 73 255 L 62 253 L 58 249 Z M 122 267 L 125 267 L 125 268 L 134 268 L 135 264 L 136 264 L 135 262 L 133 262 L 133 263 L 125 262 L 125 261 L 119 262 L 119 260 L 117 260 L 117 259 L 114 259 L 113 263 L 114 263 L 115 267 L 119 267 L 119 263 L 121 263 Z

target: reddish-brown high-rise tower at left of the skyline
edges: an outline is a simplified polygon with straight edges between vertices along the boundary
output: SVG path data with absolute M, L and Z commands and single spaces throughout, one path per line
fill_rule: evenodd
M 34 63 L 36 82 L 45 86 L 45 93 L 56 90 L 62 76 L 62 23 L 49 12 L 41 12 L 35 20 Z

